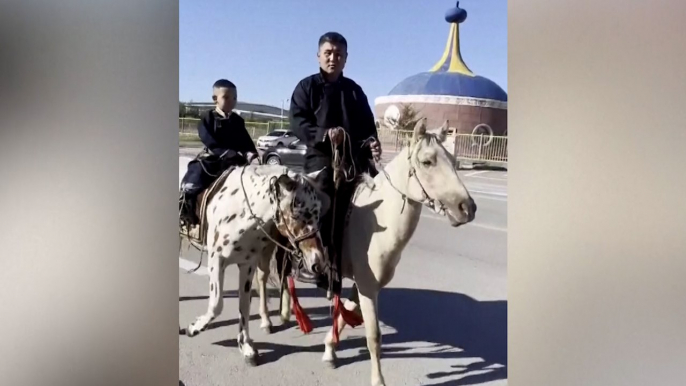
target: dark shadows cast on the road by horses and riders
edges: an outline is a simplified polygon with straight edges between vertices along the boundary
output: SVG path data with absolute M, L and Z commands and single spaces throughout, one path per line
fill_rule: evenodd
M 322 294 L 318 289 L 298 290 L 300 298 L 321 297 Z M 230 297 L 232 294 L 224 296 Z M 273 304 L 272 307 L 276 307 L 275 304 L 278 303 Z M 276 314 L 276 310 L 273 311 Z M 328 306 L 308 308 L 306 312 L 313 318 L 314 328 L 331 326 Z M 455 370 L 452 371 L 427 374 L 429 379 L 443 381 L 434 383 L 435 386 L 475 385 L 507 379 L 507 301 L 477 301 L 460 293 L 434 290 L 385 288 L 379 294 L 379 316 L 382 323 L 397 331 L 383 335 L 382 358 L 481 359 L 467 366 L 453 365 Z M 237 322 L 218 322 L 214 328 L 233 323 Z M 275 331 L 279 329 L 279 326 L 275 327 Z M 284 328 L 286 327 L 281 329 Z M 359 351 L 352 357 L 339 358 L 339 367 L 369 360 L 366 339 L 345 339 L 345 332 L 342 337 L 344 340 L 338 346 L 339 352 L 350 349 Z M 323 334 L 321 338 L 324 339 Z M 255 347 L 260 351 L 261 364 L 276 362 L 295 352 L 324 352 L 323 344 L 303 347 L 274 344 L 268 340 L 265 337 L 255 341 Z M 414 352 L 414 347 L 403 346 L 411 342 L 427 342 L 432 343 L 432 346 L 429 350 Z M 236 340 L 224 340 L 215 344 L 235 348 Z M 499 367 L 490 368 L 494 365 Z M 472 372 L 479 373 L 471 374 Z M 459 375 L 464 376 L 457 380 L 445 380 Z

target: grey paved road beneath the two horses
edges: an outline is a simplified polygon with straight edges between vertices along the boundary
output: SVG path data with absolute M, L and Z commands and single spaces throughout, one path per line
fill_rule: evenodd
M 507 384 L 507 173 L 461 171 L 478 205 L 473 224 L 459 229 L 425 211 L 396 276 L 380 295 L 382 370 L 389 385 Z M 204 269 L 187 274 L 198 254 L 179 259 L 179 322 L 185 327 L 207 308 Z M 324 293 L 299 284 L 298 296 L 315 330 L 293 324 L 259 329 L 257 298 L 250 331 L 261 365 L 244 365 L 236 348 L 238 271 L 227 269 L 223 314 L 197 337 L 179 337 L 179 379 L 186 386 L 368 385 L 363 327 L 343 333 L 342 365 L 325 368 L 322 340 L 330 327 Z M 346 287 L 350 283 L 346 282 Z M 275 310 L 278 299 L 271 300 Z

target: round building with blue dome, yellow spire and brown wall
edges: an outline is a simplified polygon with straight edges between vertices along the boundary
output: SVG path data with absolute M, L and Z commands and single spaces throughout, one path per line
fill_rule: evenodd
M 402 105 L 410 105 L 427 119 L 429 128 L 448 120 L 459 134 L 507 135 L 507 93 L 474 74 L 462 59 L 460 23 L 466 19 L 459 1 L 446 12 L 450 33 L 443 56 L 429 71 L 404 79 L 388 95 L 376 98 L 374 112 L 380 121 L 397 119 Z

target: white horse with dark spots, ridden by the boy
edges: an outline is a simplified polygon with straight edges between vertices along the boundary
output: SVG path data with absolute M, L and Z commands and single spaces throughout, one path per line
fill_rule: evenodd
M 180 161 L 179 168 L 181 180 L 186 165 Z M 281 234 L 296 248 L 290 250 L 304 259 L 308 267 L 321 269 L 318 265 L 324 252 L 318 222 L 329 203 L 318 187 L 317 173 L 301 175 L 282 166 L 249 165 L 225 173 L 209 188 L 211 196 L 206 210 L 199 205 L 207 216 L 207 236 L 202 236 L 202 232 L 195 235 L 194 243 L 209 254 L 209 303 L 207 312 L 187 327 L 188 336 L 204 331 L 220 315 L 224 272 L 227 266 L 237 264 L 238 349 L 248 364 L 256 364 L 258 353 L 248 333 L 250 290 L 256 266 L 269 259 L 276 247 L 272 240 Z M 192 231 L 188 233 L 193 235 Z M 291 248 L 286 244 L 284 247 Z

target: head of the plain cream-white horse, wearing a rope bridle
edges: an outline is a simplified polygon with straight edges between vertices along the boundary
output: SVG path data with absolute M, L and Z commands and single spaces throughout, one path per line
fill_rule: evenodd
M 407 149 L 408 195 L 433 206 L 456 227 L 474 220 L 476 204 L 457 174 L 455 158 L 443 147 L 447 134 L 447 121 L 435 130 L 426 129 L 425 119 L 415 125 Z

